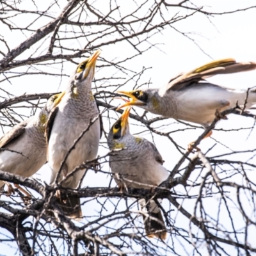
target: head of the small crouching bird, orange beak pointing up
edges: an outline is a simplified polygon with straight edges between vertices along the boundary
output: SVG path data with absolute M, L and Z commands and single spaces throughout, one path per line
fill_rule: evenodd
M 116 120 L 115 124 L 112 125 L 109 131 L 109 138 L 113 140 L 120 140 L 124 138 L 125 135 L 130 134 L 129 131 L 129 114 L 131 108 L 126 108 L 122 113 L 122 116 Z

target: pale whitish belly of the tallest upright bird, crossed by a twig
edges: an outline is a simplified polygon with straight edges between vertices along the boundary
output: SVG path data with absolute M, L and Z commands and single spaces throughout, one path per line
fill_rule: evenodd
M 65 164 L 67 165 L 68 173 L 85 161 L 94 159 L 97 156 L 100 140 L 100 125 L 99 120 L 86 131 L 75 147 L 75 141 L 81 133 L 88 127 L 85 122 L 71 122 L 67 118 L 61 118 L 54 121 L 51 137 L 49 140 L 47 159 L 52 169 L 51 182 L 54 181 L 58 171 L 60 170 L 61 162 L 68 154 Z M 76 188 L 79 180 L 83 177 L 84 170 L 79 170 L 76 175 L 73 175 L 72 180 L 69 180 L 66 186 Z

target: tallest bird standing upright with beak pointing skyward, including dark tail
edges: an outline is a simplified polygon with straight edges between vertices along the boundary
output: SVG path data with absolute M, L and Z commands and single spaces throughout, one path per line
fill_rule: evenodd
M 69 177 L 67 175 L 76 166 L 97 157 L 100 121 L 99 110 L 92 93 L 92 79 L 100 52 L 95 51 L 90 58 L 77 65 L 70 76 L 65 95 L 49 116 L 45 136 L 47 161 L 52 170 L 50 184 L 62 182 L 63 188 L 76 189 L 85 170 L 72 173 Z M 72 148 L 79 136 L 81 138 Z M 75 220 L 82 218 L 80 198 L 68 196 L 67 200 L 64 200 L 61 198 L 60 190 L 56 192 L 57 202 L 66 216 Z

